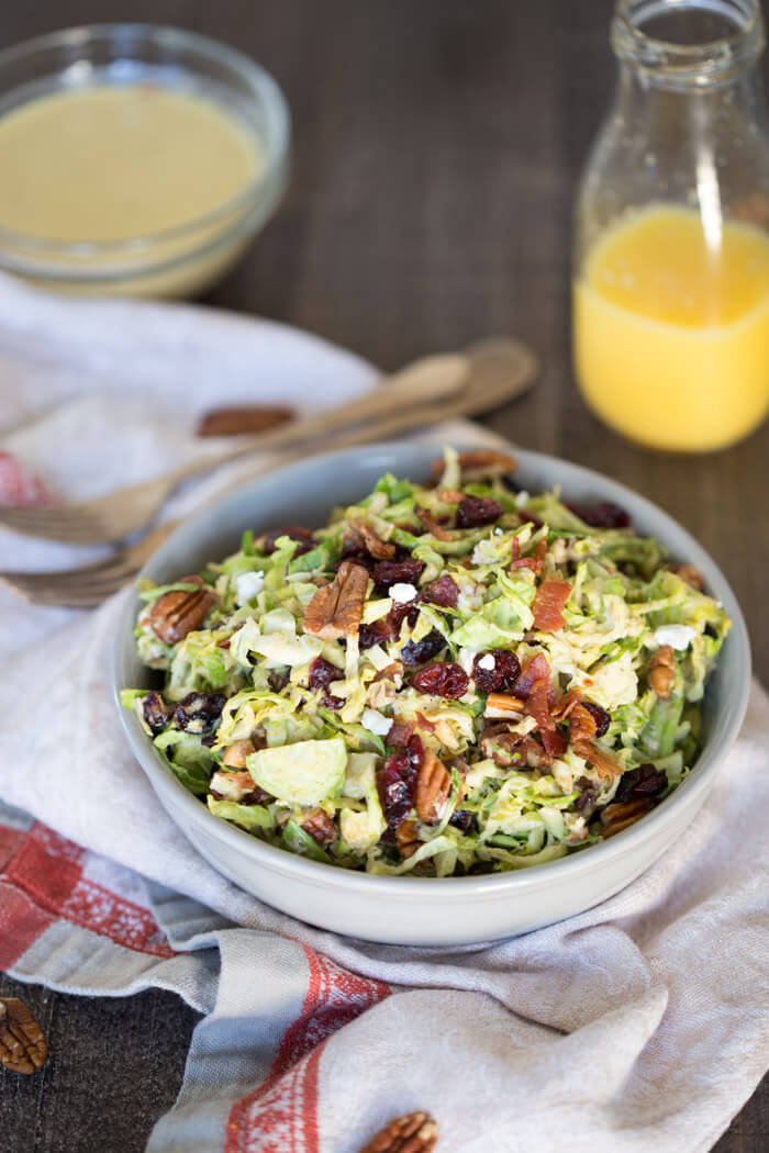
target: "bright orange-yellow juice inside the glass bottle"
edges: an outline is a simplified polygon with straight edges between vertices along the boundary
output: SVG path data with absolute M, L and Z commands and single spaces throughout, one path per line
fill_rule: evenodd
M 608 229 L 574 285 L 574 363 L 590 407 L 625 436 L 707 452 L 769 408 L 769 238 L 658 205 Z

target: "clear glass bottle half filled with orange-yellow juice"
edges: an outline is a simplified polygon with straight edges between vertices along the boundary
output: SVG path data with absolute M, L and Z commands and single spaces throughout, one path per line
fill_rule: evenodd
M 618 0 L 617 92 L 576 204 L 582 394 L 628 438 L 725 447 L 769 409 L 769 130 L 757 0 Z

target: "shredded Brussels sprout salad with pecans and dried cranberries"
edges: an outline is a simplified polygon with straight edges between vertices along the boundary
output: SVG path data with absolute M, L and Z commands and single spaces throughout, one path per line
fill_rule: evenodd
M 216 817 L 379 875 L 498 873 L 640 821 L 700 748 L 730 620 L 609 503 L 503 452 L 144 581 L 122 703 Z

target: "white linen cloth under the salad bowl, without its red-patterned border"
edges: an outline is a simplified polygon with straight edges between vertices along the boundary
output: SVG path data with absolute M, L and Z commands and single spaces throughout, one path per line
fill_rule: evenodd
M 0 281 L 0 449 L 67 497 L 184 459 L 202 408 L 266 401 L 277 390 L 289 402 L 336 404 L 371 378 L 355 357 L 265 322 L 189 306 L 58 301 Z M 188 489 L 174 511 L 227 473 Z M 83 556 L 0 535 L 2 567 L 69 566 Z M 239 989 L 243 1013 L 252 1009 L 264 930 L 408 990 L 318 1053 L 312 1148 L 354 1153 L 375 1123 L 416 1108 L 440 1118 L 439 1150 L 457 1153 L 711 1146 L 769 1063 L 769 701 L 759 686 L 710 800 L 621 894 L 491 947 L 393 948 L 262 905 L 178 832 L 113 714 L 106 670 L 119 610 L 120 597 L 91 613 L 35 609 L 0 589 L 3 798 L 258 930 L 223 954 L 225 1016 L 238 1013 Z M 274 987 L 270 996 L 273 1004 Z

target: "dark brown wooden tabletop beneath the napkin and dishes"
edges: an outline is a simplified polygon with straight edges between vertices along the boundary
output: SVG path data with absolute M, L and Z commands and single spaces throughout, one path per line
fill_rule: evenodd
M 227 40 L 284 86 L 294 174 L 279 216 L 210 302 L 310 329 L 384 368 L 510 332 L 541 353 L 514 440 L 618 477 L 686 525 L 733 582 L 769 681 L 769 427 L 718 455 L 649 455 L 606 431 L 568 354 L 571 210 L 610 97 L 610 0 L 38 0 L 2 5 L 0 47 L 146 20 Z M 1 179 L 1 174 L 0 174 Z M 664 416 L 663 416 L 664 419 Z M 24 988 L 51 1058 L 0 1077 L 8 1153 L 138 1153 L 172 1103 L 196 1015 L 168 993 Z M 1 1072 L 1 1071 L 0 1071 Z M 717 1153 L 769 1145 L 769 1084 Z

